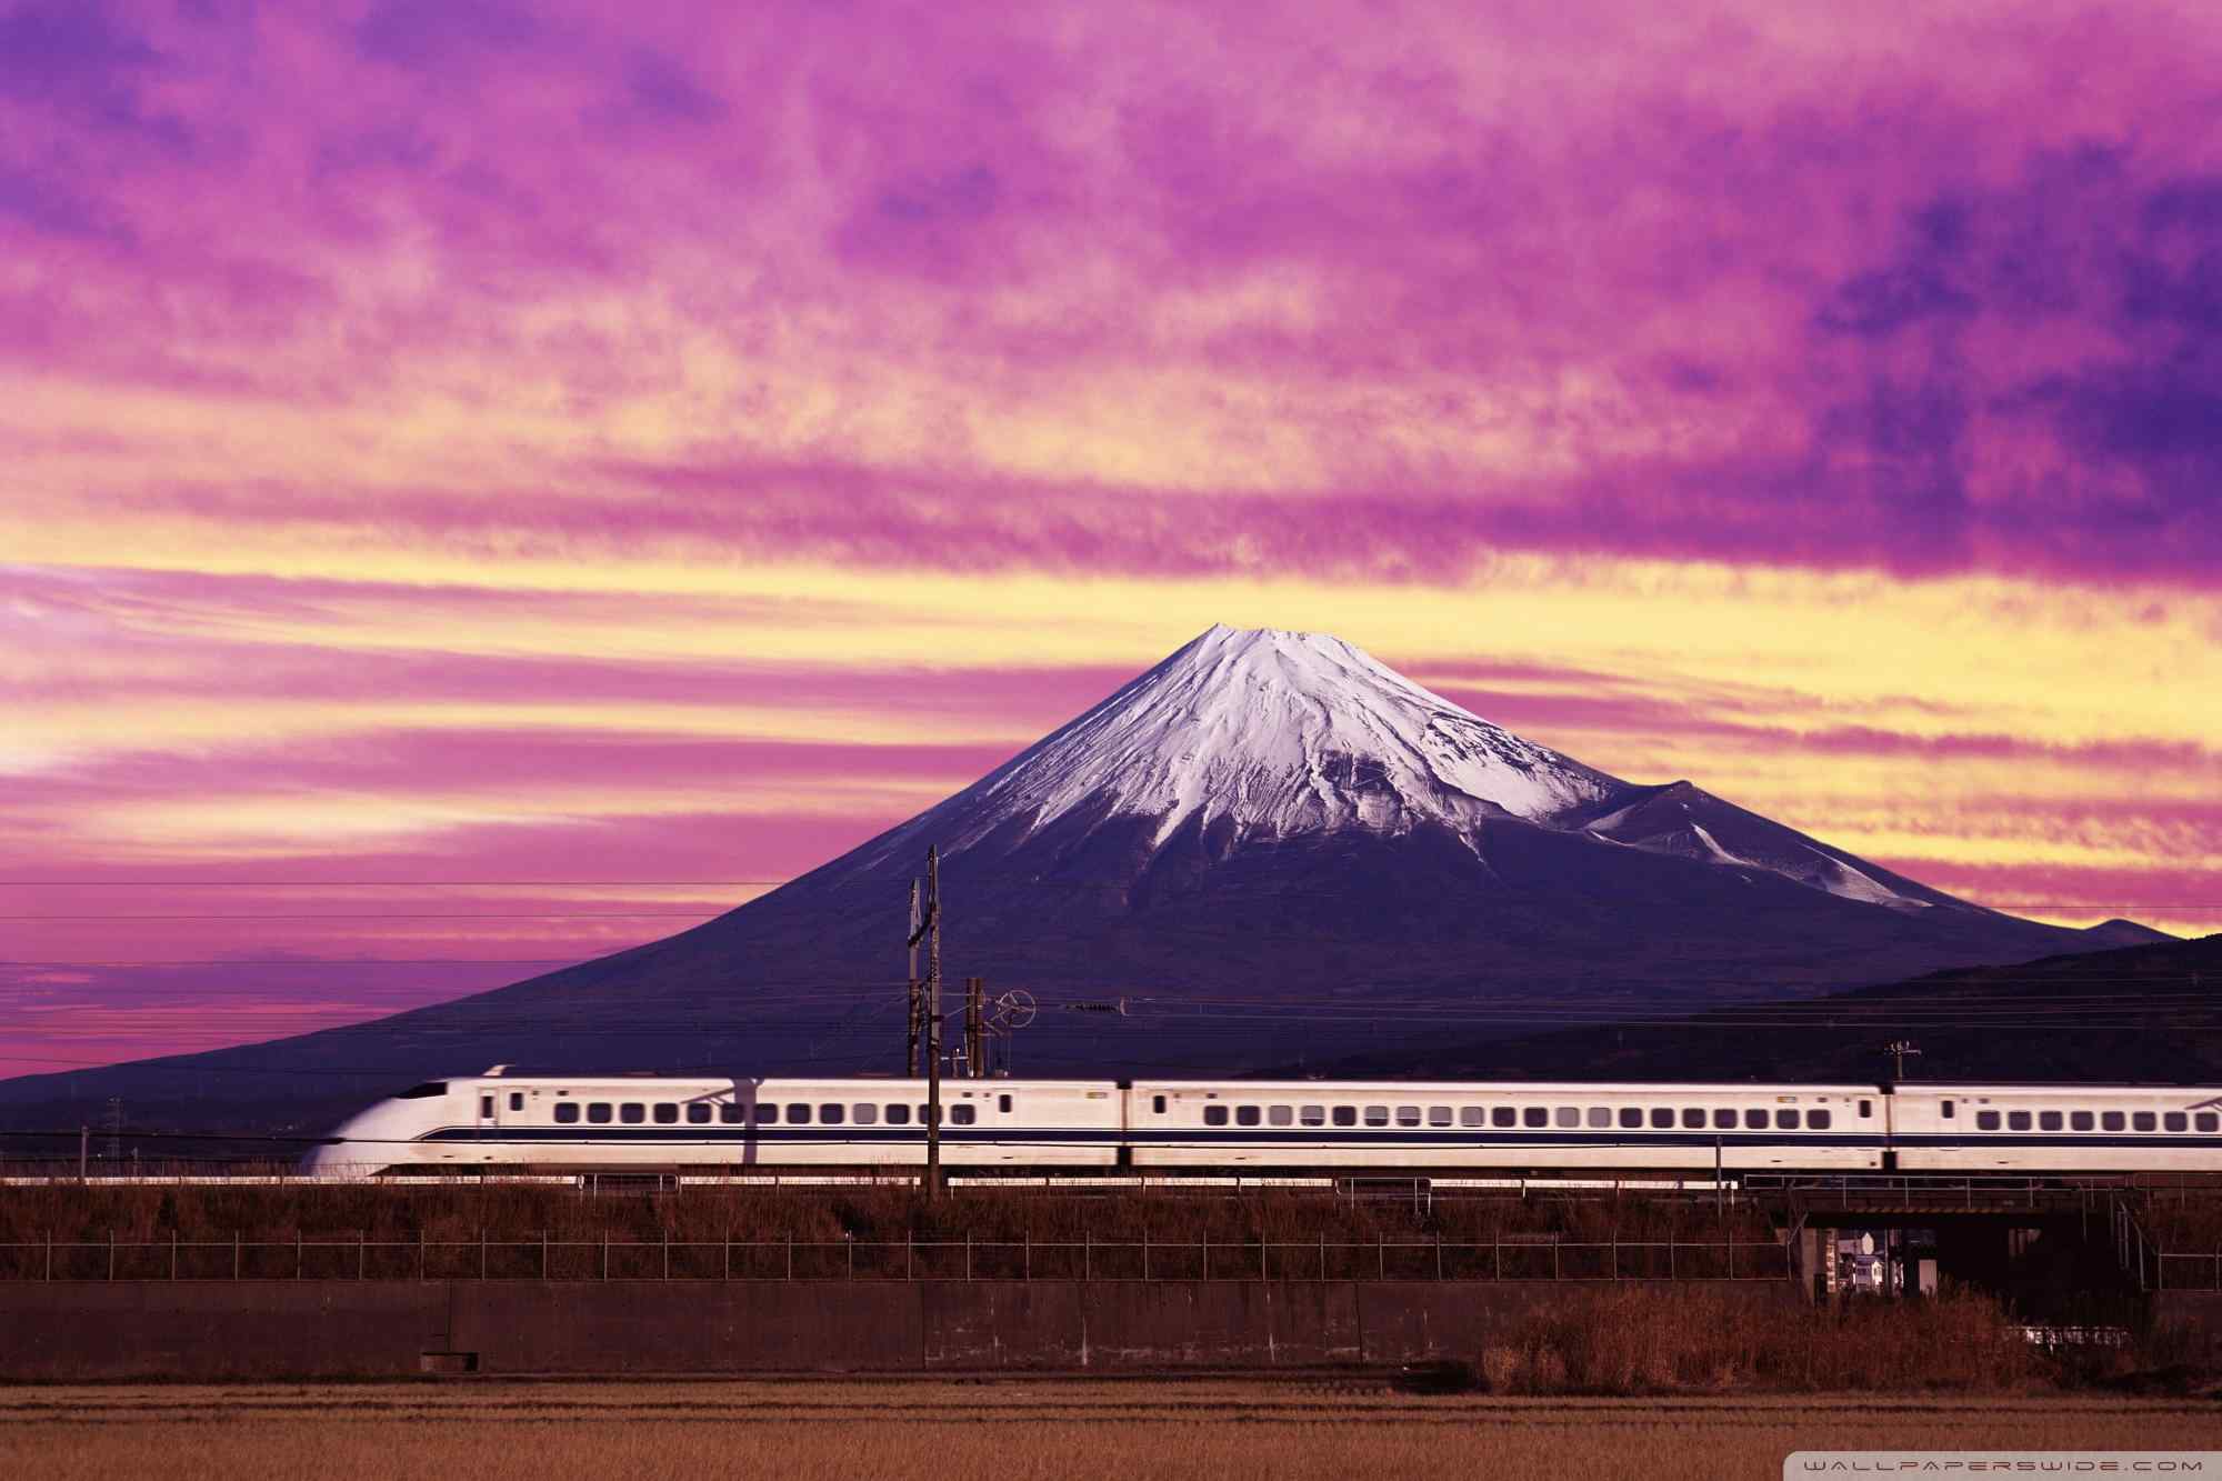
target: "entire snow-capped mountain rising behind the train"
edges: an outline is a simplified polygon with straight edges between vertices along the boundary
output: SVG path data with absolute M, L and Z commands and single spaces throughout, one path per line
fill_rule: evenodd
M 1686 781 L 1609 776 L 1340 638 L 1213 627 L 971 787 L 689 932 L 344 1030 L 80 1072 L 78 1094 L 151 1110 L 193 1079 L 176 1070 L 222 1067 L 258 1116 L 307 1116 L 322 1081 L 302 1072 L 333 1067 L 895 1072 L 929 845 L 949 981 L 1042 1003 L 1011 1045 L 1020 1074 L 1424 1063 L 1447 1032 L 2164 938 L 2020 921 Z M 51 1099 L 56 1079 L 0 1099 Z

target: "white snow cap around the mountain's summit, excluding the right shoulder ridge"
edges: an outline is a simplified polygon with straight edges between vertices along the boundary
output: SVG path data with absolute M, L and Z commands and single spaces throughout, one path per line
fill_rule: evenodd
M 1009 823 L 1038 832 L 1091 809 L 1153 818 L 1158 843 L 1191 821 L 1231 823 L 1242 838 L 1422 823 L 1467 834 L 1491 816 L 1547 821 L 1627 789 L 1342 638 L 1213 627 L 920 816 L 915 832 L 938 832 L 953 854 Z

